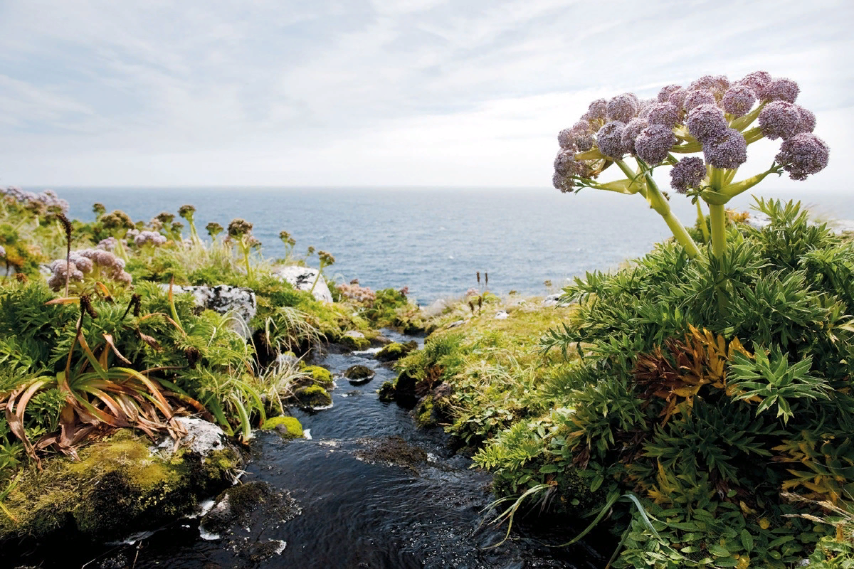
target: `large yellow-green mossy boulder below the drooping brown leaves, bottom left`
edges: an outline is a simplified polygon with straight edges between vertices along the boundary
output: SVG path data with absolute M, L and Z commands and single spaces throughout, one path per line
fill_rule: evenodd
M 200 497 L 231 485 L 240 466 L 235 450 L 202 457 L 152 454 L 150 441 L 130 430 L 79 450 L 79 461 L 56 457 L 23 471 L 3 505 L 0 543 L 54 534 L 102 540 L 122 537 L 190 513 Z

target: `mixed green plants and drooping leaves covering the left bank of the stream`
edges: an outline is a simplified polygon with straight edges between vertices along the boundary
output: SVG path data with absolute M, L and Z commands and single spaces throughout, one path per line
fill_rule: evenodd
M 329 373 L 304 363 L 313 350 L 348 331 L 370 339 L 372 323 L 412 310 L 397 292 L 331 304 L 296 290 L 274 270 L 305 259 L 264 258 L 242 219 L 208 224 L 202 239 L 193 206 L 178 212 L 186 238 L 169 212 L 134 222 L 93 211 L 95 221 L 71 222 L 52 192 L 0 196 L 0 491 L 28 462 L 76 456 L 117 428 L 178 436 L 175 415 L 248 440 L 290 404 L 329 400 Z M 180 285 L 248 287 L 257 310 L 249 322 L 202 310 Z

